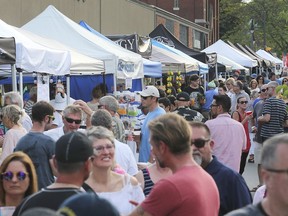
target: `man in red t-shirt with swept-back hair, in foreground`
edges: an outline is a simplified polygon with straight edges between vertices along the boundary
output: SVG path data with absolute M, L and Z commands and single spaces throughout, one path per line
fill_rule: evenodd
M 149 130 L 155 159 L 173 174 L 159 180 L 130 215 L 218 215 L 219 193 L 212 177 L 193 160 L 188 122 L 167 113 L 151 121 Z

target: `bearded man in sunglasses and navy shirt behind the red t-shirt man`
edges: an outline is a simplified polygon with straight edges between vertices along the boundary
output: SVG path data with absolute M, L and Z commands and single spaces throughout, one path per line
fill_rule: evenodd
M 219 215 L 225 215 L 250 204 L 252 197 L 243 177 L 212 155 L 214 141 L 207 125 L 201 122 L 189 122 L 189 124 L 192 128 L 193 158 L 212 176 L 219 190 Z

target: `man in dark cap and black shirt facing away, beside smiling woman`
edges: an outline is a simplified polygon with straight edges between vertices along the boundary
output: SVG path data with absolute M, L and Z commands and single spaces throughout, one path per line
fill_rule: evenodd
M 83 133 L 70 132 L 60 137 L 53 157 L 56 182 L 24 199 L 13 216 L 35 207 L 57 210 L 68 197 L 84 191 L 81 187 L 89 177 L 92 155 L 92 142 Z

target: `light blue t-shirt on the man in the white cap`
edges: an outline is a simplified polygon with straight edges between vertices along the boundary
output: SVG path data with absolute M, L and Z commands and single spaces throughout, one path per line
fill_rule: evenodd
M 151 146 L 149 143 L 149 138 L 150 138 L 150 131 L 148 129 L 148 124 L 150 121 L 153 119 L 157 118 L 160 115 L 166 114 L 165 110 L 162 109 L 161 107 L 157 107 L 154 109 L 152 112 L 149 112 L 144 120 L 144 123 L 141 128 L 141 144 L 139 148 L 139 162 L 148 162 L 149 156 L 150 156 L 150 151 L 151 151 Z

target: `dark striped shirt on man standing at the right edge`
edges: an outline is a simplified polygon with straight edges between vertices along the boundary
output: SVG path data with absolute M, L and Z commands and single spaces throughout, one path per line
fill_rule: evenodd
M 282 99 L 271 97 L 264 102 L 262 114 L 270 114 L 270 121 L 263 124 L 261 137 L 269 138 L 283 133 L 283 124 L 287 120 L 287 105 Z

